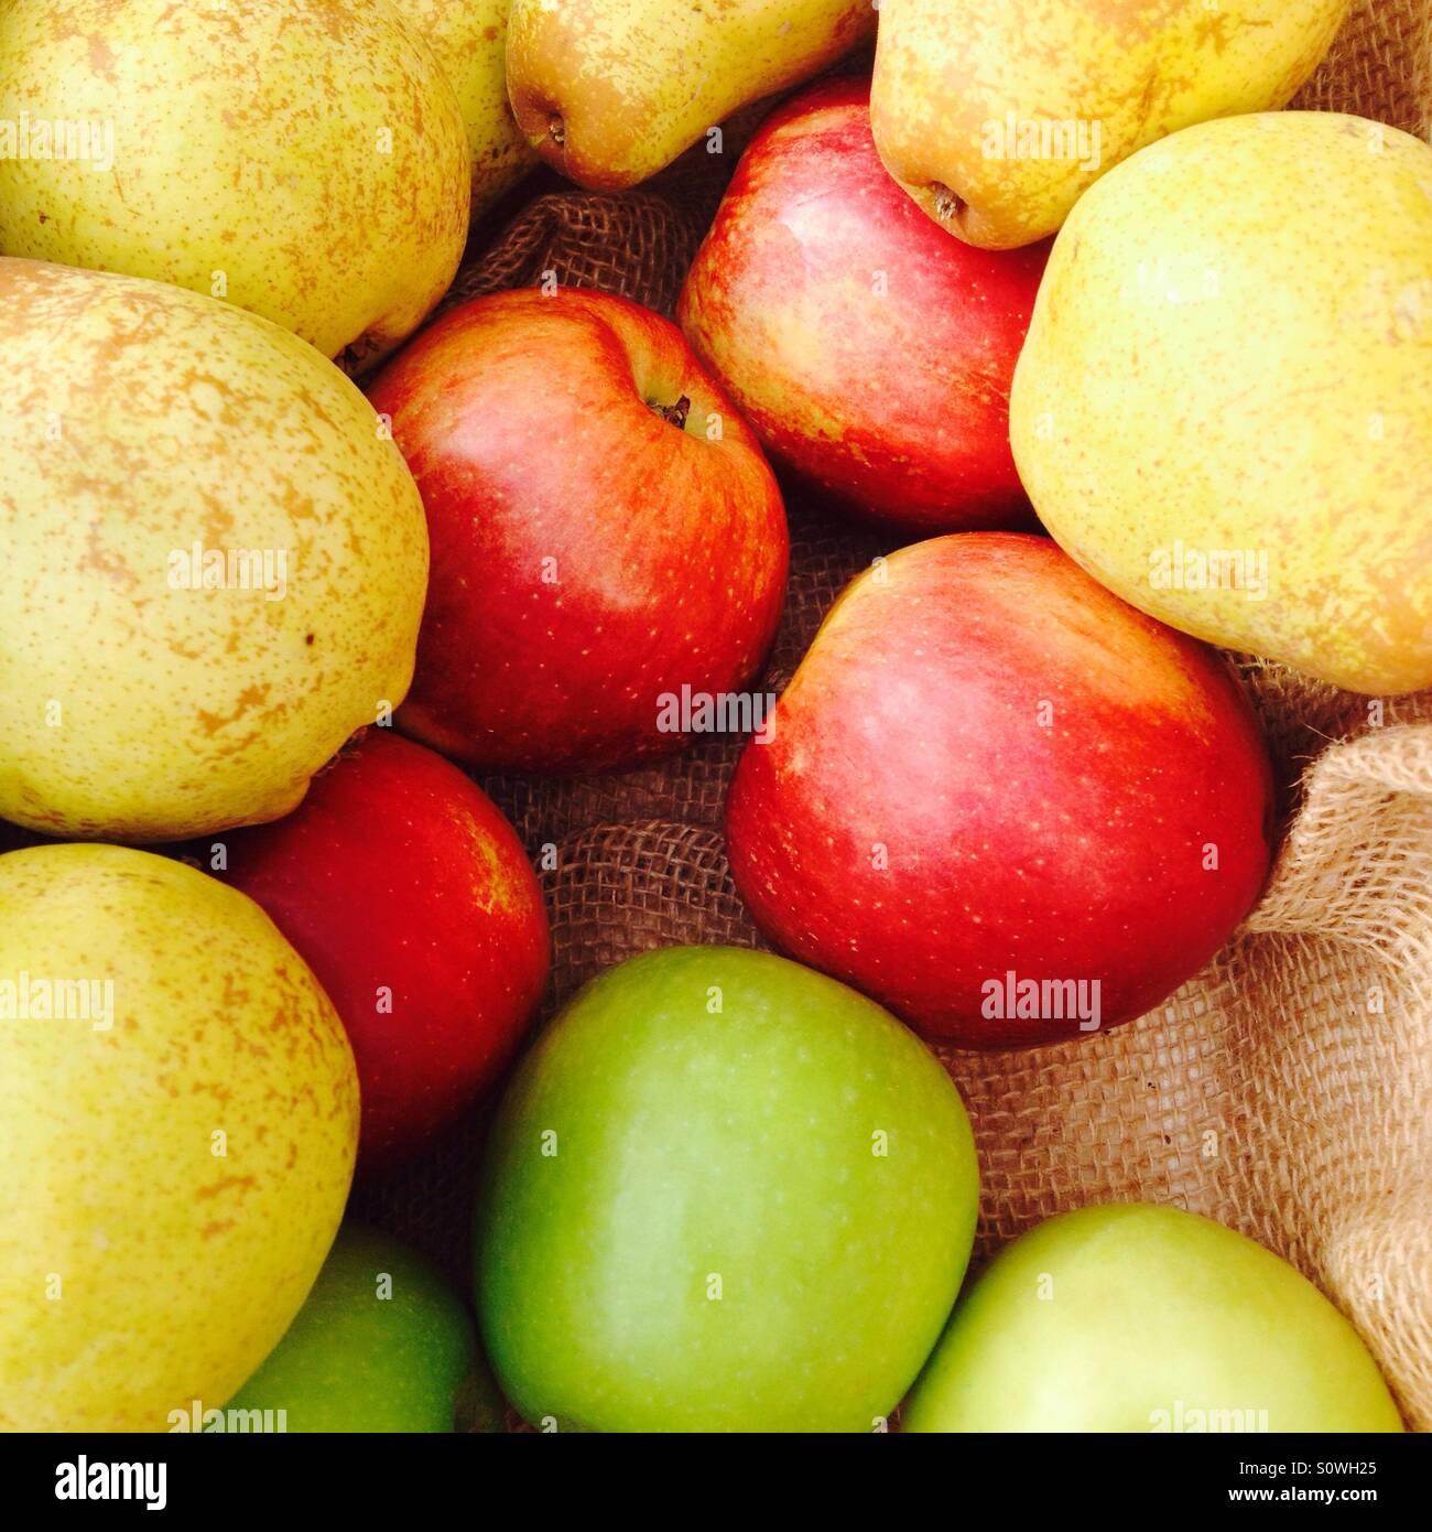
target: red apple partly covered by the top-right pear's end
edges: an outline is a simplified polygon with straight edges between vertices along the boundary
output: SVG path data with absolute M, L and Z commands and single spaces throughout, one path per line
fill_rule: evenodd
M 1032 527 L 1009 385 L 1046 257 L 939 228 L 875 152 L 868 83 L 836 80 L 755 136 L 677 316 L 776 464 L 847 507 Z

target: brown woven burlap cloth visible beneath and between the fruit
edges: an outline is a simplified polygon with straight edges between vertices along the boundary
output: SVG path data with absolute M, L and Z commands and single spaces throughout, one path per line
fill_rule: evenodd
M 1427 135 L 1432 9 L 1371 0 L 1297 106 Z M 760 112 L 726 153 L 623 196 L 536 188 L 452 300 L 541 282 L 671 311 Z M 795 504 L 780 689 L 835 594 L 890 539 Z M 1175 1203 L 1300 1267 L 1377 1354 L 1409 1425 L 1432 1428 L 1432 692 L 1386 703 L 1242 660 L 1287 795 L 1268 892 L 1166 1005 L 1077 1043 L 945 1056 L 983 1174 L 979 1256 L 1086 1203 Z M 625 775 L 487 789 L 544 870 L 556 965 L 545 1014 L 631 953 L 760 945 L 731 882 L 721 801 L 740 741 Z M 358 1210 L 429 1249 L 464 1288 L 482 1114 Z

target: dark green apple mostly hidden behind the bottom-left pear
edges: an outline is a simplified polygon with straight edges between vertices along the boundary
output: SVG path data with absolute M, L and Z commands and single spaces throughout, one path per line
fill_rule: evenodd
M 476 1386 L 473 1379 L 476 1377 Z M 230 1409 L 286 1431 L 452 1431 L 489 1399 L 472 1319 L 443 1276 L 389 1235 L 345 1224 L 308 1302 Z M 487 1429 L 492 1429 L 487 1425 Z

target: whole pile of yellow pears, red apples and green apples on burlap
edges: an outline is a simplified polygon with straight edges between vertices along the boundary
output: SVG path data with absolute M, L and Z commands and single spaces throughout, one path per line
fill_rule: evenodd
M 1280 110 L 1345 9 L 0 0 L 0 1426 L 1401 1429 L 1181 1209 L 966 1278 L 927 1046 L 1254 908 L 1219 648 L 1432 685 L 1432 149 Z M 677 323 L 435 316 L 525 176 L 792 87 Z M 897 552 L 776 700 L 796 495 Z M 556 852 L 475 777 L 711 734 L 786 956 L 533 1028 Z M 345 1212 L 487 1108 L 469 1308 Z

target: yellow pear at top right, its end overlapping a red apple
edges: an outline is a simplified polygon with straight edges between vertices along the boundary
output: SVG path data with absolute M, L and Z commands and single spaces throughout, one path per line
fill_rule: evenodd
M 936 222 L 1008 250 L 1052 234 L 1144 144 L 1288 101 L 1348 0 L 882 0 L 870 126 Z

